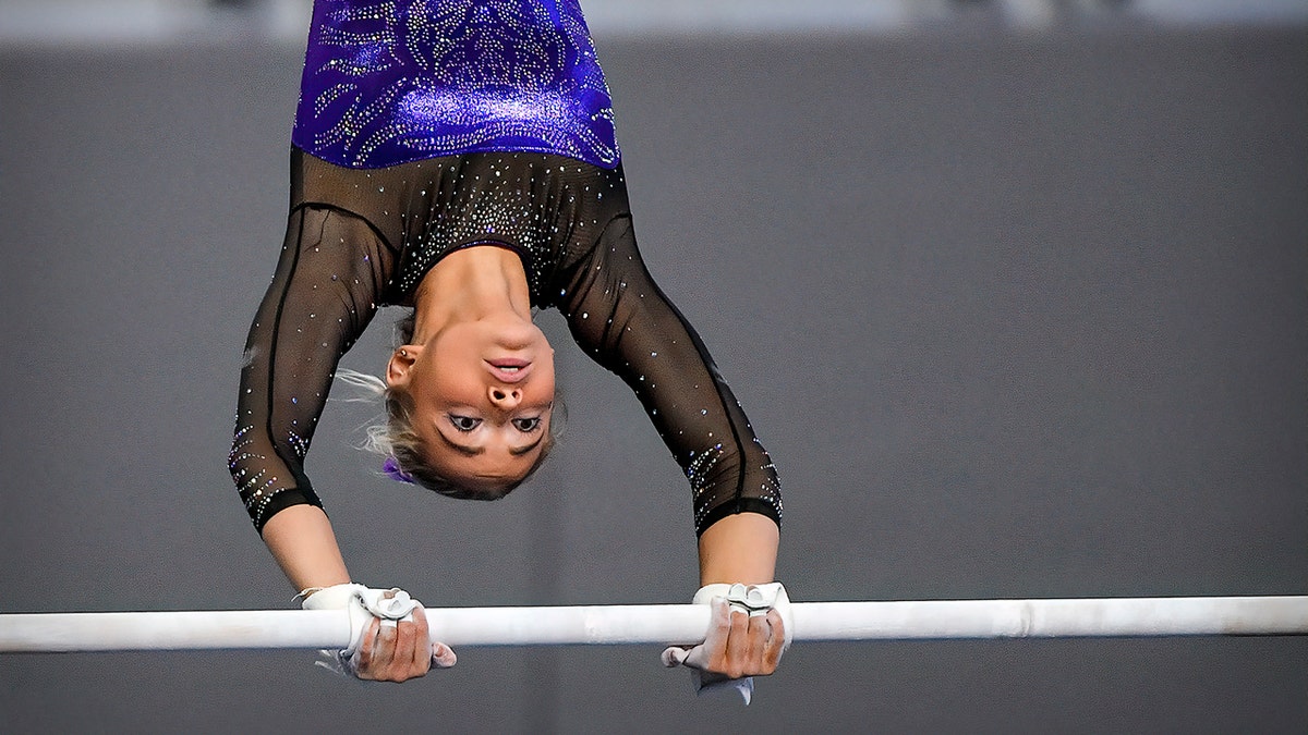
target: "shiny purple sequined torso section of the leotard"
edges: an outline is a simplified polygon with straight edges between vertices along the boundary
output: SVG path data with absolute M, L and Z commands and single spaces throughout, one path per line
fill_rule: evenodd
M 577 0 L 318 0 L 292 140 L 352 169 L 472 152 L 619 161 Z

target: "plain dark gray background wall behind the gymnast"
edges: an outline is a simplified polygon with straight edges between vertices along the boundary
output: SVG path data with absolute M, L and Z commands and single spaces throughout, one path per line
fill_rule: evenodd
M 1308 33 L 981 25 L 598 38 L 651 271 L 782 470 L 804 600 L 1304 594 Z M 302 48 L 0 51 L 0 611 L 284 607 L 224 467 Z M 379 370 L 383 315 L 348 357 Z M 428 604 L 695 590 L 684 480 L 560 343 L 570 420 L 494 505 L 328 409 L 352 572 Z M 757 701 L 657 649 L 0 659 L 0 730 L 1303 732 L 1308 641 L 797 646 Z

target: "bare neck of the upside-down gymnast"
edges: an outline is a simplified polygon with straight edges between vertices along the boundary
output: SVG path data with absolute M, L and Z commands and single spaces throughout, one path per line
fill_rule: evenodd
M 455 322 L 515 315 L 531 320 L 531 290 L 518 254 L 473 246 L 441 259 L 413 294 L 413 344 Z

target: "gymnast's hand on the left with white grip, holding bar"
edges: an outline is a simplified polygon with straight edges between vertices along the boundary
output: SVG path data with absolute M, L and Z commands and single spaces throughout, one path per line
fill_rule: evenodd
M 323 651 L 319 666 L 369 681 L 407 681 L 456 660 L 449 646 L 432 642 L 422 604 L 403 590 L 335 585 L 305 592 L 305 609 L 349 609 L 349 647 Z

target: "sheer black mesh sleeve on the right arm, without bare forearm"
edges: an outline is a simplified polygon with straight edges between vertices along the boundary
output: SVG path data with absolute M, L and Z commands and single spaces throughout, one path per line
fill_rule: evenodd
M 696 534 L 736 513 L 781 524 L 768 453 L 698 335 L 641 260 L 628 216 L 565 267 L 559 306 L 573 337 L 640 399 L 691 481 Z

